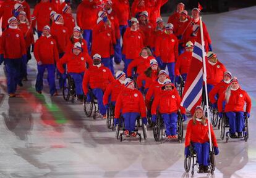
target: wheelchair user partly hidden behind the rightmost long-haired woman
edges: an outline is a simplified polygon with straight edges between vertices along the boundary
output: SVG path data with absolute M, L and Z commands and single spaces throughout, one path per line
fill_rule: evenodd
M 216 127 L 218 124 L 218 97 L 226 91 L 231 81 L 231 78 L 232 74 L 229 71 L 225 71 L 223 75 L 223 80 L 220 83 L 216 84 L 216 86 L 214 86 L 209 93 L 209 99 L 211 103 L 211 124 L 213 124 L 213 127 Z

